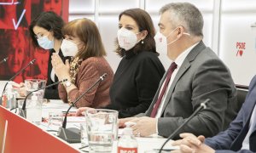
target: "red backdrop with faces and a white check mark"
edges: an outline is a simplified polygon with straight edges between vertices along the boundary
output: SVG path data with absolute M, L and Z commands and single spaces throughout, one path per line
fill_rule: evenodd
M 26 78 L 47 79 L 49 51 L 33 48 L 28 26 L 43 11 L 54 11 L 68 20 L 68 0 L 0 0 L 0 80 L 8 80 L 32 59 L 36 63 L 15 77 L 15 82 Z

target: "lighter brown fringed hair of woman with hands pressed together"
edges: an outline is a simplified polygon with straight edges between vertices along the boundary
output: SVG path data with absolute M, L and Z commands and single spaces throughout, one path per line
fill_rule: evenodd
M 102 37 L 96 24 L 89 19 L 73 20 L 67 23 L 62 29 L 63 36 L 79 37 L 84 43 L 82 50 L 76 57 L 79 59 L 87 59 L 90 57 L 102 57 L 106 55 L 103 47 Z

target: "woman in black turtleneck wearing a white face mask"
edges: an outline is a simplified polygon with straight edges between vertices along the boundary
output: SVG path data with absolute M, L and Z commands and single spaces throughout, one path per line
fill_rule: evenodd
M 148 110 L 165 69 L 154 45 L 154 26 L 147 12 L 140 8 L 119 14 L 118 48 L 122 58 L 110 88 L 111 105 L 119 117 L 135 116 Z M 77 112 L 90 108 L 81 108 Z

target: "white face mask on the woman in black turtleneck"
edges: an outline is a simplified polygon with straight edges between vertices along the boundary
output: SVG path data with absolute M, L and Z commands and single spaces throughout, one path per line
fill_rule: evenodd
M 140 33 L 140 32 L 138 32 Z M 119 41 L 119 47 L 124 48 L 125 50 L 130 50 L 133 48 L 137 42 L 137 34 L 134 33 L 133 31 L 128 31 L 125 28 L 121 28 L 118 31 L 118 41 Z

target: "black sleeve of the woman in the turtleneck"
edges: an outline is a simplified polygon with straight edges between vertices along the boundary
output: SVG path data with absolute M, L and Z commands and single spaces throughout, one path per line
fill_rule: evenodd
M 135 116 L 148 110 L 159 86 L 165 68 L 157 59 L 145 58 L 139 63 L 135 75 L 137 86 L 138 105 L 119 110 L 119 118 Z M 113 107 L 111 109 L 114 109 Z

